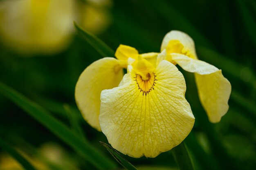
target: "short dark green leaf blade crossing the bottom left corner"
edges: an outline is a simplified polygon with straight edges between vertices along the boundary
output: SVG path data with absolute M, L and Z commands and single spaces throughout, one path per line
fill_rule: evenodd
M 16 159 L 26 170 L 36 170 L 27 159 L 22 157 L 14 148 L 9 146 L 3 139 L 0 138 L 0 147 L 6 150 L 14 159 Z

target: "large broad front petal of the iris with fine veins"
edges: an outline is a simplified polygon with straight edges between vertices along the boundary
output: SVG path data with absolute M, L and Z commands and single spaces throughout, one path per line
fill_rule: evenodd
M 152 88 L 145 82 L 140 87 L 140 76 L 131 71 L 121 86 L 101 92 L 102 132 L 112 147 L 131 157 L 156 157 L 170 150 L 194 124 L 184 77 L 175 65 L 161 61 L 154 75 L 148 81 Z

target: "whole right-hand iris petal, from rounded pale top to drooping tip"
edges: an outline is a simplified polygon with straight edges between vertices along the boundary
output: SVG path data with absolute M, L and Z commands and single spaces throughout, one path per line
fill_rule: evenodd
M 198 60 L 193 39 L 181 31 L 167 33 L 162 41 L 162 50 L 166 50 L 166 60 L 195 73 L 199 98 L 209 121 L 220 122 L 229 109 L 228 100 L 231 93 L 231 85 L 221 70 Z

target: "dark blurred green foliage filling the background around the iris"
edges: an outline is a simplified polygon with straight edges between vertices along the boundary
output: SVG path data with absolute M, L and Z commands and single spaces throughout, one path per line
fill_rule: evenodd
M 194 39 L 199 59 L 222 69 L 232 85 L 230 109 L 220 123 L 211 124 L 199 102 L 193 74 L 179 68 L 186 79 L 186 98 L 195 115 L 195 126 L 185 142 L 196 170 L 253 170 L 256 167 L 256 2 L 116 0 L 111 13 L 112 25 L 98 35 L 110 48 L 115 50 L 119 44 L 125 44 L 140 53 L 159 52 L 164 35 L 180 30 Z M 74 34 L 66 50 L 52 56 L 26 57 L 2 43 L 0 81 L 51 112 L 54 119 L 114 162 L 99 144 L 99 141 L 107 143 L 106 137 L 83 120 L 74 101 L 79 75 L 100 58 L 101 54 L 78 34 Z M 0 137 L 10 146 L 35 157 L 37 149 L 31 148 L 54 142 L 76 159 L 76 168 L 97 169 L 49 131 L 44 125 L 48 122 L 39 124 L 2 94 L 0 108 Z M 138 169 L 145 165 L 177 169 L 170 152 L 154 159 L 124 157 Z

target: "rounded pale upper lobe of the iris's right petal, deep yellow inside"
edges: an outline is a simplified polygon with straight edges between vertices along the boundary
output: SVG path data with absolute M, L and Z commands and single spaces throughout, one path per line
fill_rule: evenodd
M 167 54 L 176 52 L 197 59 L 193 39 L 181 31 L 170 31 L 164 36 L 161 51 L 164 49 L 166 49 Z

